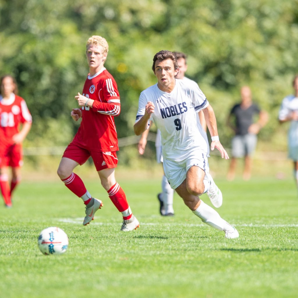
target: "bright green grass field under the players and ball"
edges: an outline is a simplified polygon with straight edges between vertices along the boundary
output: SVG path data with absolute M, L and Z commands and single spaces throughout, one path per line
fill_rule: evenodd
M 224 195 L 217 211 L 240 234 L 225 239 L 177 194 L 176 215 L 159 216 L 160 181 L 140 177 L 118 179 L 141 224 L 130 233 L 119 231 L 121 216 L 99 180 L 86 185 L 104 207 L 86 227 L 82 201 L 58 179 L 23 181 L 13 208 L 0 207 L 0 297 L 297 297 L 292 179 L 215 179 Z M 39 251 L 39 232 L 48 226 L 69 236 L 65 254 Z

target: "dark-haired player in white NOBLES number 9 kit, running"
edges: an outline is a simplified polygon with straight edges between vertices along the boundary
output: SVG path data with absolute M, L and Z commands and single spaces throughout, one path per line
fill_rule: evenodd
M 153 72 L 158 83 L 142 91 L 134 132 L 142 134 L 152 120 L 161 131 L 164 172 L 173 189 L 195 215 L 220 231 L 226 238 L 238 238 L 235 227 L 228 224 L 199 196 L 210 187 L 205 172 L 208 167 L 208 146 L 197 125 L 197 113 L 204 116 L 212 136 L 211 150 L 217 148 L 221 157 L 228 159 L 219 142 L 214 111 L 199 87 L 176 80 L 177 59 L 170 51 L 160 51 L 153 58 Z

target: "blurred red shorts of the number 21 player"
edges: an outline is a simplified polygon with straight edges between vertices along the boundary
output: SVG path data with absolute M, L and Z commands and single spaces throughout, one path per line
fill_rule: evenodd
M 23 165 L 23 151 L 21 144 L 0 146 L 0 168 L 21 167 Z

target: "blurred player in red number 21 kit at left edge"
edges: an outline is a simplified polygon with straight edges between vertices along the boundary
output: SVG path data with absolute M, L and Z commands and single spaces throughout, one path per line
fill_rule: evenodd
M 5 206 L 12 207 L 12 193 L 21 180 L 22 142 L 30 131 L 32 117 L 25 100 L 17 95 L 18 87 L 12 76 L 1 77 L 0 89 L 0 188 Z M 9 167 L 12 172 L 10 185 Z

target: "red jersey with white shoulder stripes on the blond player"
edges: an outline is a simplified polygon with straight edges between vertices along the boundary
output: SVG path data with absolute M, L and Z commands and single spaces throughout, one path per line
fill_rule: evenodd
M 118 138 L 114 116 L 120 114 L 120 96 L 116 81 L 105 67 L 88 75 L 83 95 L 93 99 L 93 107 L 82 107 L 82 122 L 73 143 L 87 150 L 117 151 Z

